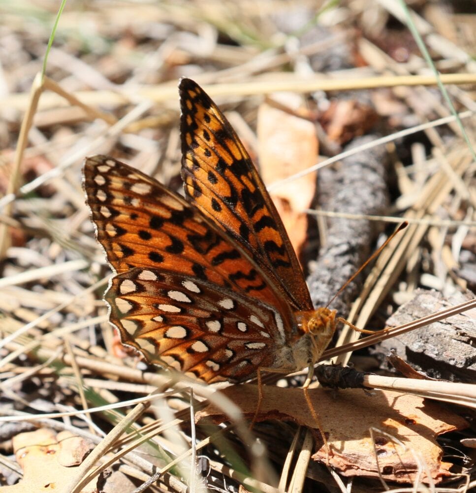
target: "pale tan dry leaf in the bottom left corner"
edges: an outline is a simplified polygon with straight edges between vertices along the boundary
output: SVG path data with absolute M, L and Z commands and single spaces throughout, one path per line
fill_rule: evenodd
M 90 451 L 90 444 L 81 437 L 48 428 L 20 433 L 13 438 L 13 450 L 23 469 L 23 479 L 12 486 L 4 486 L 2 493 L 60 492 L 76 474 L 75 467 Z M 82 493 L 96 491 L 89 483 Z

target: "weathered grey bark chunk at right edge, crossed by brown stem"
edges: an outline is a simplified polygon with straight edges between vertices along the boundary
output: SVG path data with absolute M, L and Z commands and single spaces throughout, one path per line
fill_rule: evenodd
M 418 289 L 415 297 L 402 305 L 388 320 L 394 327 L 419 317 L 474 298 L 471 291 L 445 299 L 441 293 Z M 383 357 L 395 350 L 416 370 L 432 378 L 451 382 L 474 383 L 476 380 L 476 310 L 432 323 L 398 338 L 381 342 L 373 350 Z

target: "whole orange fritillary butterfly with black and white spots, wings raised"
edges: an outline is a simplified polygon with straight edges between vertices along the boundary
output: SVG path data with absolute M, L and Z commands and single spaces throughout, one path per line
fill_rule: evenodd
M 190 79 L 179 92 L 187 200 L 111 157 L 84 166 L 116 273 L 110 321 L 147 361 L 208 383 L 312 365 L 335 311 L 314 310 L 281 218 L 220 109 Z

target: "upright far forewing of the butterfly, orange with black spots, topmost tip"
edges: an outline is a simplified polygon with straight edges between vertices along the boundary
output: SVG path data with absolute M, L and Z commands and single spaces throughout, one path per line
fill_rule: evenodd
M 179 85 L 186 195 L 249 252 L 296 310 L 313 308 L 281 218 L 246 149 L 192 80 Z

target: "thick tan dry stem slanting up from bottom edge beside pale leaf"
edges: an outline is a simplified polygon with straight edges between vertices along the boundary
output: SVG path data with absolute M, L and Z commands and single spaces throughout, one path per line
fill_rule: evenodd
M 79 493 L 89 483 L 88 471 L 95 466 L 119 440 L 124 431 L 144 413 L 148 405 L 139 404 L 108 433 L 108 435 L 94 448 L 93 452 L 78 467 L 75 477 L 64 488 L 63 493 Z

